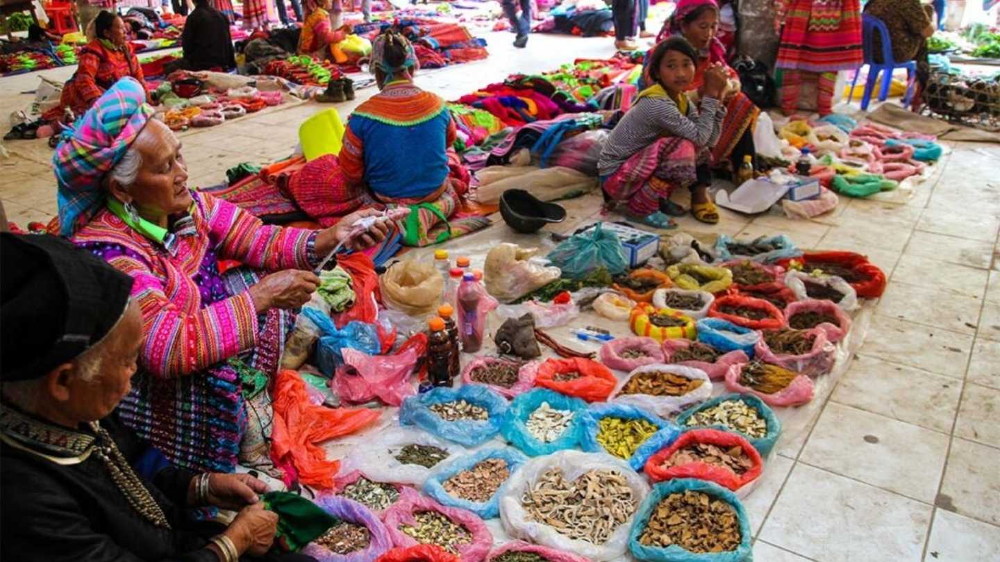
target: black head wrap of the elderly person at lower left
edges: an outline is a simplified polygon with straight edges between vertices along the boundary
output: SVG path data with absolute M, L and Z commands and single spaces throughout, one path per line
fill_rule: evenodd
M 45 375 L 101 341 L 132 278 L 49 235 L 0 234 L 0 379 Z

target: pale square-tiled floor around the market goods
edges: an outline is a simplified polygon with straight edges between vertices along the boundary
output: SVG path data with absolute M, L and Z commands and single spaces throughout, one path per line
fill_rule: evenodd
M 423 72 L 420 84 L 453 99 L 508 73 L 612 54 L 605 39 L 532 36 L 518 51 L 508 35 L 488 38 L 487 61 Z M 71 70 L 42 74 L 64 79 Z M 4 107 L 30 100 L 19 92 L 36 76 L 0 79 Z M 338 106 L 342 116 L 370 92 Z M 191 183 L 286 156 L 299 123 L 318 109 L 291 104 L 184 133 Z M 681 219 L 694 233 L 787 232 L 803 247 L 863 252 L 889 275 L 856 359 L 810 410 L 818 415 L 800 416 L 798 438 L 780 444 L 746 500 L 759 561 L 1000 560 L 1000 144 L 950 147 L 902 203 L 843 199 L 813 221 L 724 212 L 716 230 Z M 6 148 L 8 219 L 46 220 L 56 211 L 51 152 L 41 141 Z M 596 210 L 577 205 L 567 204 L 572 216 Z

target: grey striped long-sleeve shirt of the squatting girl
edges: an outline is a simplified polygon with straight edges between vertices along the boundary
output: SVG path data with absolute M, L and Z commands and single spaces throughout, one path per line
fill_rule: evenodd
M 701 110 L 689 103 L 687 114 L 670 98 L 644 97 L 622 117 L 601 150 L 600 175 L 615 173 L 626 160 L 660 137 L 681 137 L 700 148 L 719 140 L 726 108 L 715 98 L 701 100 Z

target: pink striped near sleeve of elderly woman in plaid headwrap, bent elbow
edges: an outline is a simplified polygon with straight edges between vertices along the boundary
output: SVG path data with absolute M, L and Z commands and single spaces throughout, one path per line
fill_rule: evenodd
M 139 256 L 123 252 L 106 259 L 135 279 L 132 297 L 146 334 L 139 361 L 154 376 L 191 375 L 256 345 L 257 312 L 249 292 L 186 313 L 167 298 L 163 281 Z

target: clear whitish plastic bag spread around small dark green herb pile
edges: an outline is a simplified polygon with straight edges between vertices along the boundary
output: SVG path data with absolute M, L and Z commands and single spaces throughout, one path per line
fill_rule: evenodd
M 360 470 L 370 480 L 376 482 L 423 486 L 433 467 L 400 462 L 396 456 L 407 445 L 428 445 L 444 449 L 448 452 L 448 457 L 441 462 L 447 462 L 467 452 L 464 447 L 435 437 L 426 431 L 408 427 L 389 427 L 355 445 L 344 459 L 342 471 Z

